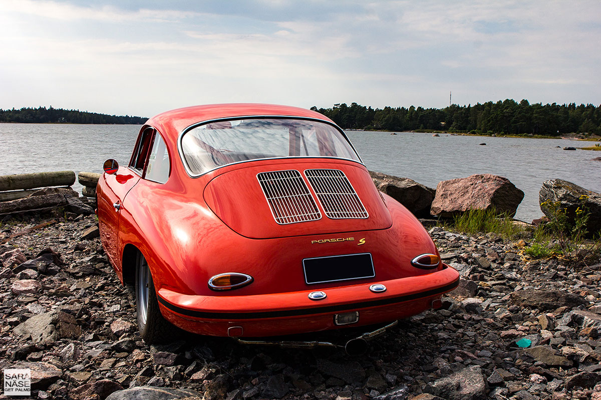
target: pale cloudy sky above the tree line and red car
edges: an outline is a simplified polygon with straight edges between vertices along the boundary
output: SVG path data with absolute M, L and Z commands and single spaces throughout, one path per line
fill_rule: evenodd
M 601 104 L 592 0 L 0 0 L 0 43 L 0 109 Z

